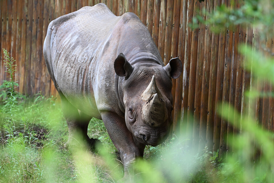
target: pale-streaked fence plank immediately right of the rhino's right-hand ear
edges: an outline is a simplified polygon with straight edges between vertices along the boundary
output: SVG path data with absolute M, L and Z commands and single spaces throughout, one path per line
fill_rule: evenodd
M 188 92 L 189 92 L 189 78 L 190 78 L 190 61 L 191 61 L 191 45 L 192 45 L 192 24 L 194 10 L 194 1 L 187 1 L 187 12 L 186 12 L 186 36 L 185 36 L 185 50 L 184 50 L 184 65 L 183 65 L 183 88 L 182 88 L 182 124 L 181 134 L 185 138 L 192 137 L 193 121 L 188 118 Z M 191 115 L 190 115 L 191 116 Z M 189 131 L 191 130 L 191 131 Z

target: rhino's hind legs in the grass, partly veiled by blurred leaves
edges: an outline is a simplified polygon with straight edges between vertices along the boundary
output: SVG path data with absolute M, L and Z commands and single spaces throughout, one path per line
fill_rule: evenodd
M 68 141 L 64 144 L 64 147 L 68 149 L 70 145 L 75 145 L 76 147 L 80 145 L 77 144 L 78 142 L 74 140 L 75 135 L 80 135 L 80 138 L 83 138 L 84 141 L 90 146 L 91 150 L 95 152 L 95 145 L 96 143 L 100 143 L 100 141 L 98 139 L 90 139 L 87 134 L 88 124 L 92 117 L 75 108 L 67 100 L 67 98 L 65 98 L 65 96 L 60 96 L 63 115 L 67 121 L 67 126 L 69 128 L 69 138 Z

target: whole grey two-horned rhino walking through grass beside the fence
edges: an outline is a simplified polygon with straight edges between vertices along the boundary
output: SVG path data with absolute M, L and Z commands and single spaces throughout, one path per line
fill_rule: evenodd
M 77 130 L 88 140 L 90 119 L 102 119 L 126 175 L 145 145 L 166 139 L 171 78 L 179 77 L 182 63 L 175 58 L 164 67 L 135 14 L 115 16 L 100 3 L 61 16 L 50 23 L 43 52 L 69 128 L 65 146 Z

